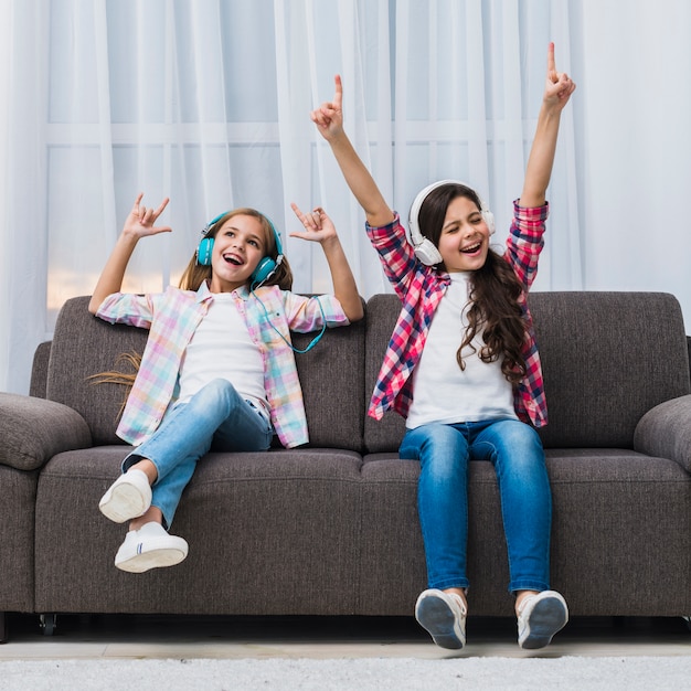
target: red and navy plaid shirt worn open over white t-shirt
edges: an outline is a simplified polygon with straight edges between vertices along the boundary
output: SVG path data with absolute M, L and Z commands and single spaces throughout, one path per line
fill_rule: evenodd
M 513 387 L 513 404 L 519 418 L 535 427 L 548 424 L 548 407 L 527 295 L 538 273 L 548 213 L 546 203 L 544 206 L 527 209 L 514 202 L 513 222 L 503 255 L 523 285 L 519 301 L 528 332 L 522 351 L 527 374 Z M 411 374 L 421 358 L 429 325 L 450 278 L 446 272 L 425 266 L 415 258 L 398 214 L 389 225 L 365 226 L 372 245 L 379 252 L 386 278 L 403 304 L 374 385 L 368 414 L 381 419 L 386 411 L 395 410 L 406 417 L 413 400 Z

